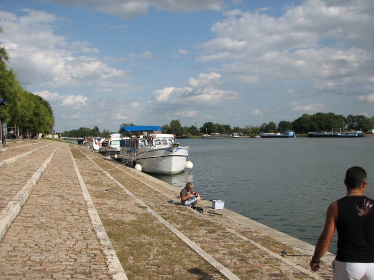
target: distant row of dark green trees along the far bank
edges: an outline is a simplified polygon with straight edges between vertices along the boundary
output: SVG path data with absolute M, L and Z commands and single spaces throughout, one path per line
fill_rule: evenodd
M 122 126 L 131 126 L 133 123 L 123 123 L 119 126 L 118 133 L 121 133 Z M 259 135 L 260 133 L 276 133 L 292 130 L 297 134 L 307 134 L 308 132 L 331 132 L 331 130 L 355 130 L 367 132 L 374 129 L 374 117 L 367 118 L 362 115 L 336 115 L 334 113 L 317 113 L 314 115 L 304 114 L 300 118 L 290 121 L 280 121 L 278 125 L 275 122 L 263 123 L 260 126 L 246 125 L 245 128 L 235 126 L 231 128 L 229 124 L 219 124 L 213 122 L 205 122 L 200 128 L 195 125 L 181 126 L 178 120 L 172 120 L 169 124 L 161 126 L 163 133 L 175 134 L 176 136 L 191 135 L 198 136 L 201 134 L 230 134 L 240 132 L 243 135 Z M 61 134 L 64 137 L 104 137 L 108 138 L 111 133 L 108 130 L 100 130 L 97 126 L 91 130 L 90 128 L 80 127 L 79 130 L 65 131 Z

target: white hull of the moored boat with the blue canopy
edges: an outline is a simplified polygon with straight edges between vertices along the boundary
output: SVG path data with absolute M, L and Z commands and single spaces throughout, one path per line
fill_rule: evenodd
M 149 174 L 173 175 L 181 173 L 188 161 L 188 149 L 178 147 L 140 148 L 136 154 L 119 154 L 123 163 L 134 167 L 141 165 L 141 171 Z

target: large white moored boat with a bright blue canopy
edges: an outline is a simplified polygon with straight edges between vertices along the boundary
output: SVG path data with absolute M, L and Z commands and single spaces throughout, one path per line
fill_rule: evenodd
M 129 138 L 120 140 L 118 158 L 124 164 L 144 173 L 164 175 L 193 167 L 190 146 L 176 142 L 173 134 L 162 134 L 160 126 L 122 126 L 121 130 L 130 133 Z M 132 132 L 143 135 L 132 136 Z

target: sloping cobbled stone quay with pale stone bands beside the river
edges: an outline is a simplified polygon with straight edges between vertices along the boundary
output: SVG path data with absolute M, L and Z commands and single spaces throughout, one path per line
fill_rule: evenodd
M 0 153 L 2 279 L 331 277 L 333 256 L 313 273 L 307 243 L 209 201 L 178 205 L 176 187 L 84 147 L 38 142 Z

